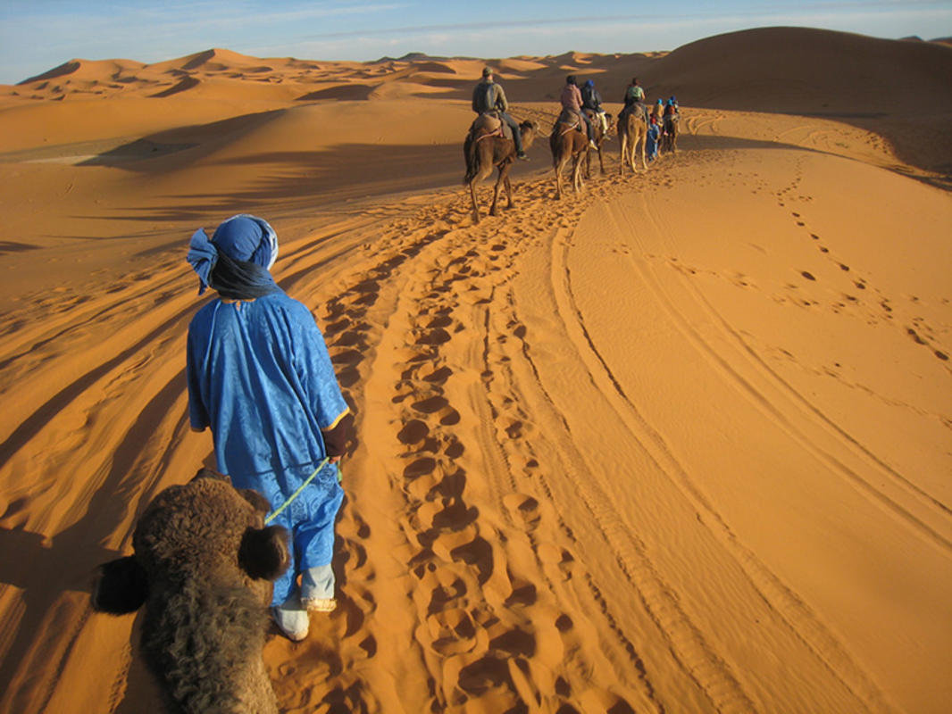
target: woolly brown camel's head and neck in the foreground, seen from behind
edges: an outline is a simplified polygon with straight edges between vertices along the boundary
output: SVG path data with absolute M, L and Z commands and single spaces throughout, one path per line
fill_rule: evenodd
M 203 468 L 149 504 L 134 555 L 102 565 L 92 606 L 146 605 L 142 653 L 168 712 L 277 714 L 262 659 L 271 583 L 288 567 L 288 531 L 270 506 Z

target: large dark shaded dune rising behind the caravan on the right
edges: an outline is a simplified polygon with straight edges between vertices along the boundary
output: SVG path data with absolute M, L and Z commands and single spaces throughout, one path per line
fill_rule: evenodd
M 939 45 L 800 28 L 719 35 L 658 62 L 698 106 L 799 113 L 948 111 L 950 74 L 952 51 Z

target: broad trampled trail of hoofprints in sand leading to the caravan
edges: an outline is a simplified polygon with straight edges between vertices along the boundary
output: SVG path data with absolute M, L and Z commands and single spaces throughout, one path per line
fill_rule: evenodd
M 303 645 L 315 657 L 337 650 L 333 659 L 342 662 L 331 671 L 339 683 L 330 691 L 315 687 L 305 699 L 299 689 L 288 691 L 288 710 L 319 703 L 387 710 L 382 687 L 368 682 L 379 679 L 368 651 L 389 646 L 393 633 L 376 634 L 371 615 L 410 605 L 416 614 L 402 630 L 412 641 L 406 656 L 429 678 L 400 679 L 406 701 L 432 710 L 664 711 L 636 645 L 614 624 L 614 605 L 574 554 L 576 536 L 552 506 L 543 456 L 551 445 L 534 432 L 509 367 L 526 359 L 526 327 L 509 287 L 520 257 L 544 245 L 553 225 L 577 221 L 594 199 L 585 194 L 580 203 L 556 205 L 551 192 L 547 179 L 526 184 L 515 210 L 479 228 L 466 227 L 466 202 L 458 199 L 396 221 L 374 243 L 367 266 L 339 279 L 339 297 L 321 308 L 361 433 L 388 432 L 392 454 L 384 460 L 405 466 L 387 474 L 395 511 L 389 527 L 359 515 L 360 486 L 383 474 L 359 476 L 339 527 L 344 612 L 331 617 L 327 640 Z M 520 210 L 526 204 L 531 209 Z M 372 452 L 386 445 L 365 446 Z M 365 464 L 358 457 L 347 472 Z M 387 593 L 367 585 L 379 574 L 358 539 L 373 542 L 378 530 L 387 531 L 384 549 L 400 552 L 409 571 L 402 573 L 402 605 L 380 602 Z M 612 624 L 612 641 L 590 634 L 599 629 L 586 625 L 590 617 Z M 348 646 L 351 637 L 361 642 Z M 302 666 L 288 663 L 279 673 Z

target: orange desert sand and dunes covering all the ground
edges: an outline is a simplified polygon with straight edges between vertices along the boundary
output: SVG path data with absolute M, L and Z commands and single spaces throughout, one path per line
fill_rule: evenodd
M 360 445 L 287 712 L 942 712 L 952 47 L 750 30 L 491 62 L 676 94 L 680 152 L 516 207 L 460 179 L 483 60 L 76 60 L 0 97 L 2 711 L 154 710 L 95 565 L 210 465 L 188 236 L 264 216 Z M 491 188 L 484 185 L 483 196 Z

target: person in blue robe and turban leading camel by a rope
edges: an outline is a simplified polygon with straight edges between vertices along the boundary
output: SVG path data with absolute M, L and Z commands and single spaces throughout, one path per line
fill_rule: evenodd
M 188 414 L 193 429 L 211 428 L 218 469 L 234 486 L 264 494 L 272 512 L 287 504 L 272 523 L 288 529 L 294 566 L 274 584 L 272 612 L 297 641 L 308 609 L 336 602 L 337 462 L 352 417 L 314 318 L 268 271 L 277 254 L 274 229 L 255 216 L 229 218 L 210 240 L 202 229 L 192 235 L 199 294 L 210 287 L 219 297 L 188 326 Z

